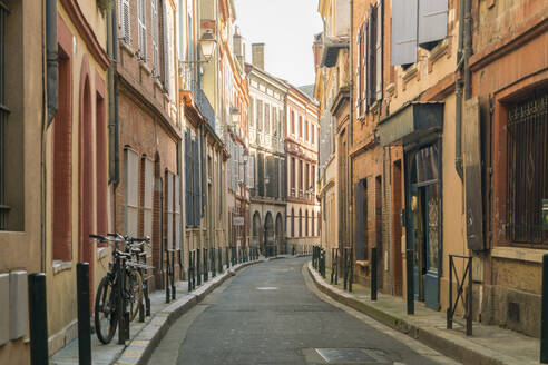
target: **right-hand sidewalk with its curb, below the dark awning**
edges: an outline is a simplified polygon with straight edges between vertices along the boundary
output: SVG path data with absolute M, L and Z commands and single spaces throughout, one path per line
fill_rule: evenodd
M 309 274 L 316 287 L 333 299 L 343 303 L 373 319 L 412 336 L 441 354 L 463 364 L 539 364 L 540 342 L 517 332 L 498 326 L 473 323 L 473 336 L 464 335 L 464 320 L 456 316 L 453 329 L 447 329 L 444 312 L 428 309 L 415 302 L 414 315 L 407 315 L 407 304 L 401 297 L 378 293 L 372 302 L 370 289 L 358 284 L 352 285 L 353 293 L 342 289 L 342 278 L 337 286 L 329 284 L 307 264 Z

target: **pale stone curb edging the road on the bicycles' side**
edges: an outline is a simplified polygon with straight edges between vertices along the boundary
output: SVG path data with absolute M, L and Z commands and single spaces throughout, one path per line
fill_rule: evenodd
M 232 268 L 233 273 L 237 273 L 243 268 L 255 265 L 258 263 L 265 263 L 268 259 L 258 259 L 256 262 L 243 263 L 239 266 Z M 150 359 L 153 351 L 158 346 L 159 342 L 169 331 L 169 327 L 182 315 L 190 310 L 204 298 L 218 288 L 226 279 L 233 275 L 228 269 L 221 276 L 216 276 L 209 279 L 209 285 L 203 285 L 194 292 L 184 295 L 179 299 L 175 300 L 166 308 L 154 314 L 150 322 L 131 339 L 129 345 L 121 352 L 120 356 L 112 362 L 115 365 L 144 365 Z

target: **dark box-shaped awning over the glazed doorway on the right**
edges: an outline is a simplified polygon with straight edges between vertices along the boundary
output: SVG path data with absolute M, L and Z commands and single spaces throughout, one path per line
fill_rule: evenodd
M 382 146 L 418 141 L 443 129 L 443 102 L 411 102 L 379 122 Z

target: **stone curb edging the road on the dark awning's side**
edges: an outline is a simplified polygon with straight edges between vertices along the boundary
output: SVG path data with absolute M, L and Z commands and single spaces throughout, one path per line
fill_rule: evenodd
M 499 354 L 478 344 L 470 343 L 456 334 L 451 334 L 436 327 L 418 326 L 412 323 L 413 318 L 410 316 L 402 315 L 401 317 L 397 317 L 392 314 L 382 312 L 368 303 L 354 298 L 352 294 L 337 293 L 331 288 L 331 285 L 329 285 L 320 276 L 320 274 L 313 270 L 311 262 L 305 265 L 309 269 L 309 275 L 320 292 L 326 294 L 339 303 L 370 316 L 376 322 L 413 337 L 414 339 L 448 357 L 470 365 L 516 364 L 516 358 Z

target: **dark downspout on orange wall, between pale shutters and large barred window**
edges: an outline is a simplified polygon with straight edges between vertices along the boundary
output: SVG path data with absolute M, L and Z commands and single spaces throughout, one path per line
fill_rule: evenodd
M 461 71 L 463 67 L 463 42 L 464 42 L 464 1 L 459 0 L 459 48 L 457 50 L 457 70 L 454 71 L 454 93 L 456 93 L 456 114 L 454 114 L 454 169 L 460 180 L 463 179 L 462 169 L 462 80 Z

